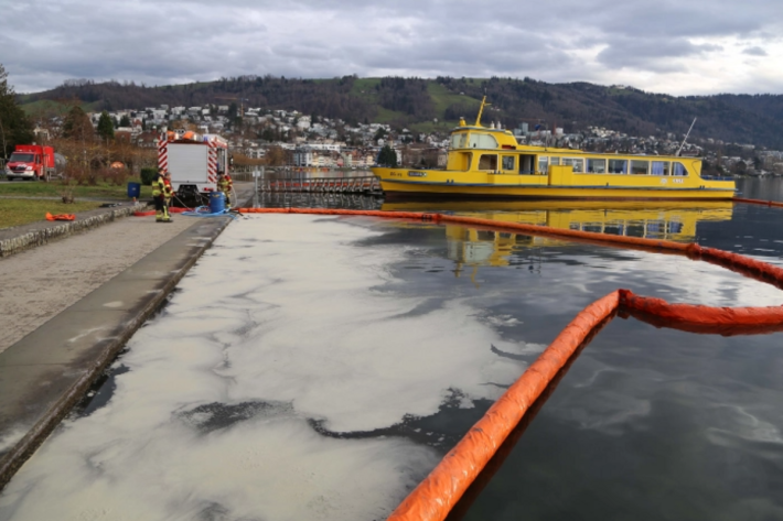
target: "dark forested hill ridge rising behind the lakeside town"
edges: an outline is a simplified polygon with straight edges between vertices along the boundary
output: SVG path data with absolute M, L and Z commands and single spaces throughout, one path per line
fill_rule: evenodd
M 53 90 L 20 96 L 20 100 L 30 113 L 42 111 L 42 100 L 78 99 L 93 110 L 143 109 L 163 104 L 239 105 L 244 100 L 245 107 L 296 109 L 350 123 L 431 129 L 436 118 L 441 124 L 457 122 L 461 116 L 473 121 L 484 93 L 492 107 L 483 121 L 500 121 L 508 128 L 523 121 L 533 128 L 543 121 L 543 127 L 562 127 L 566 132 L 597 126 L 630 135 L 682 135 L 698 118 L 694 137 L 783 149 L 783 95 L 674 97 L 631 87 L 547 84 L 529 78 L 243 76 L 163 87 L 68 82 Z

